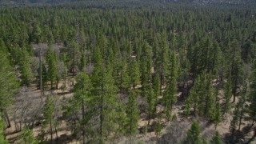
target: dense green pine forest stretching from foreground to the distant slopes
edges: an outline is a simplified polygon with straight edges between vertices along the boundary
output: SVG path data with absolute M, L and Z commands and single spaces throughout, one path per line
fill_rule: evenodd
M 142 114 L 146 129 L 158 137 L 162 120 L 176 117 L 177 102 L 185 105 L 187 118 L 200 116 L 216 127 L 231 114 L 232 142 L 238 142 L 234 133 L 244 114 L 254 124 L 256 10 L 83 4 L 0 8 L 0 143 L 6 142 L 3 123 L 10 126 L 7 107 L 18 85 L 42 90 L 42 133 L 50 132 L 51 142 L 54 133 L 58 138 L 57 96 L 43 95 L 58 89 L 74 94 L 62 116 L 82 143 L 132 137 Z M 23 140 L 40 141 L 30 128 Z M 191 143 L 204 142 L 199 129 L 194 122 L 188 130 Z M 219 137 L 216 133 L 212 142 L 220 143 Z

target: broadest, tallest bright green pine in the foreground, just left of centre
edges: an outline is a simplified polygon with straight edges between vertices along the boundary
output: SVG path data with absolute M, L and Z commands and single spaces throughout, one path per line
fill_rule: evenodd
M 122 102 L 118 102 L 118 88 L 114 85 L 112 70 L 102 65 L 94 69 L 91 78 L 94 98 L 88 102 L 91 104 L 91 110 L 97 110 L 94 112 L 96 114 L 94 117 L 99 118 L 99 124 L 97 124 L 98 132 L 94 140 L 100 143 L 111 138 L 109 133 L 121 134 L 125 124 L 125 110 L 123 110 Z

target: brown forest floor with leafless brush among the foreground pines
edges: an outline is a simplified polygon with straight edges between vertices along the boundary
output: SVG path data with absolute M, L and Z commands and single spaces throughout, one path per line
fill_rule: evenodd
M 61 87 L 62 84 L 59 85 Z M 71 81 L 67 82 L 66 90 L 51 90 L 47 91 L 47 94 L 54 94 L 56 99 L 58 99 L 58 105 L 60 112 L 60 117 L 62 117 L 62 107 L 66 104 L 67 99 L 72 98 L 73 93 L 71 90 Z M 10 143 L 19 143 L 18 138 L 21 132 L 19 131 L 20 122 L 25 121 L 26 118 L 33 117 L 31 116 L 31 111 L 36 111 L 42 105 L 43 101 L 45 101 L 46 96 L 41 97 L 40 90 L 36 89 L 36 86 L 31 86 L 31 88 L 24 88 L 25 90 L 21 90 L 18 96 L 15 96 L 16 102 L 9 110 L 10 116 L 10 124 L 11 127 L 6 129 L 6 138 L 10 141 Z M 220 91 L 220 94 L 223 94 Z M 179 94 L 181 95 L 181 94 Z M 41 99 L 42 98 L 42 99 Z M 161 98 L 161 97 L 159 97 Z M 222 95 L 220 96 L 222 98 Z M 238 102 L 238 98 L 237 98 Z M 157 121 L 157 119 L 152 119 L 150 121 L 150 127 L 148 127 L 146 134 L 143 133 L 143 128 L 147 126 L 147 118 L 146 114 L 141 114 L 141 119 L 138 122 L 138 130 L 139 133 L 133 138 L 119 138 L 114 143 L 178 143 L 186 138 L 186 131 L 190 128 L 190 125 L 194 120 L 198 120 L 201 127 L 201 136 L 202 138 L 206 138 L 210 140 L 214 135 L 215 131 L 221 134 L 222 141 L 225 142 L 226 138 L 229 138 L 230 135 L 230 121 L 232 119 L 231 114 L 226 114 L 222 118 L 222 122 L 216 127 L 214 124 L 204 120 L 199 117 L 189 117 L 185 118 L 184 109 L 185 102 L 177 102 L 176 106 L 172 111 L 172 114 L 176 115 L 176 119 L 171 122 L 166 122 L 166 119 L 161 119 L 162 131 L 161 134 L 157 137 L 154 134 L 153 123 Z M 236 103 L 236 102 L 235 102 Z M 231 112 L 234 111 L 235 103 L 231 105 Z M 41 107 L 42 108 L 42 107 Z M 161 105 L 157 106 L 158 113 L 163 110 Z M 22 115 L 22 113 L 24 113 Z M 36 111 L 38 113 L 38 117 L 42 116 L 40 110 Z M 41 114 L 40 114 L 41 113 Z M 242 142 L 246 142 L 246 140 L 250 139 L 254 135 L 254 131 L 251 129 L 251 122 L 247 120 L 248 115 L 245 115 L 245 121 L 242 122 L 241 130 L 238 136 L 241 138 Z M 22 123 L 22 122 L 21 122 Z M 22 127 L 24 123 L 22 123 Z M 41 134 L 42 128 L 40 123 L 35 122 L 33 126 L 34 136 L 38 136 Z M 71 138 L 71 131 L 69 130 L 67 123 L 60 118 L 60 124 L 58 126 L 58 141 L 56 140 L 56 134 L 54 133 L 54 143 L 79 143 L 78 140 Z M 50 142 L 50 133 L 46 133 L 45 138 L 48 142 Z

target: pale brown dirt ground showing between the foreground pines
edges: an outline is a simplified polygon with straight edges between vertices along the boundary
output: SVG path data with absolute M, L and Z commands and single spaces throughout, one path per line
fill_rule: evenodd
M 62 86 L 62 83 L 59 84 L 59 87 Z M 73 94 L 70 93 L 71 89 L 71 82 L 67 82 L 66 84 L 67 89 L 66 90 L 52 90 L 46 92 L 46 94 L 54 94 L 54 96 L 58 97 L 60 101 L 63 99 L 72 98 Z M 23 92 L 24 94 L 18 97 L 18 101 L 14 103 L 14 106 L 10 108 L 10 124 L 11 127 L 6 129 L 6 138 L 9 140 L 10 143 L 19 143 L 18 137 L 21 134 L 21 132 L 17 132 L 17 127 L 15 127 L 14 122 L 14 114 L 15 110 L 17 111 L 17 105 L 24 105 L 24 102 L 28 101 L 28 99 L 33 99 L 33 101 L 30 103 L 32 107 L 36 107 L 42 103 L 42 101 L 45 100 L 45 96 L 41 97 L 40 91 L 35 89 L 35 86 L 32 86 L 30 90 L 25 90 Z M 220 98 L 222 102 L 222 96 L 223 92 L 220 91 Z M 182 94 L 178 94 L 179 96 Z M 23 99 L 22 99 L 23 98 Z M 159 97 L 162 98 L 162 97 Z M 60 105 L 64 105 L 64 103 L 60 102 Z M 231 112 L 234 111 L 234 105 L 235 103 L 232 103 L 232 109 Z M 25 106 L 25 105 L 24 105 Z M 138 122 L 138 134 L 133 138 L 118 138 L 115 143 L 178 143 L 182 141 L 184 138 L 186 138 L 186 130 L 190 128 L 191 123 L 194 120 L 198 120 L 200 122 L 201 126 L 201 136 L 202 138 L 206 138 L 210 140 L 212 136 L 214 135 L 215 131 L 218 130 L 218 132 L 222 136 L 222 140 L 224 142 L 226 138 L 226 134 L 230 133 L 230 121 L 232 119 L 231 114 L 226 114 L 222 118 L 222 122 L 216 127 L 213 124 L 210 124 L 209 122 L 203 120 L 202 118 L 184 118 L 184 102 L 178 102 L 176 106 L 174 106 L 172 110 L 172 114 L 176 115 L 176 119 L 172 122 L 166 122 L 166 119 L 161 119 L 162 124 L 162 130 L 161 134 L 157 138 L 157 136 L 154 134 L 154 130 L 147 131 L 146 134 L 143 134 L 143 127 L 147 125 L 147 119 L 146 114 L 141 114 L 141 119 Z M 163 106 L 158 105 L 157 106 L 157 112 L 161 113 L 164 109 Z M 245 117 L 248 117 L 245 115 Z M 150 125 L 153 125 L 154 121 L 157 121 L 157 118 L 150 121 Z M 17 124 L 18 122 L 16 122 Z M 248 126 L 250 126 L 251 122 L 249 120 L 242 122 L 241 130 L 244 131 Z M 33 133 L 34 136 L 38 136 L 42 131 L 41 126 L 34 126 Z M 254 134 L 253 130 L 247 130 L 244 139 L 250 139 Z M 56 134 L 53 135 L 54 139 L 56 139 Z M 131 140 L 132 139 L 132 140 Z M 50 134 L 46 134 L 46 140 L 50 142 Z M 68 126 L 65 121 L 60 121 L 60 124 L 58 126 L 58 142 L 54 143 L 79 143 L 78 140 L 74 140 L 71 138 L 71 131 L 68 129 Z

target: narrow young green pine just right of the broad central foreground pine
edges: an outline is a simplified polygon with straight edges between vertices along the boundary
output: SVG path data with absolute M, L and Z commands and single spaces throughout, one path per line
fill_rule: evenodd
M 126 108 L 126 114 L 128 118 L 127 124 L 127 134 L 133 136 L 137 134 L 138 131 L 138 119 L 139 119 L 139 110 L 138 102 L 136 101 L 136 94 L 134 91 L 130 92 L 129 102 Z

